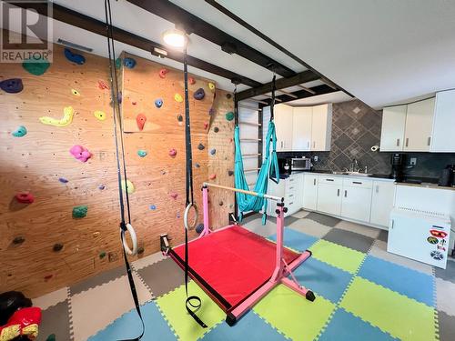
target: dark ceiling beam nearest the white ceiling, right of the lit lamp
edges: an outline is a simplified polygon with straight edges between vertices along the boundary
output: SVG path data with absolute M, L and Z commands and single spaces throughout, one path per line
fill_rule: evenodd
M 264 55 L 253 47 L 243 43 L 232 35 L 220 30 L 214 25 L 208 24 L 196 15 L 193 15 L 183 8 L 171 3 L 168 0 L 127 0 L 129 3 L 137 5 L 146 11 L 158 15 L 171 23 L 182 27 L 188 34 L 195 34 L 207 39 L 208 41 L 221 46 L 223 51 L 230 54 L 240 55 L 249 61 L 262 67 L 271 69 L 283 77 L 296 75 L 288 66 L 280 64 L 278 61 Z

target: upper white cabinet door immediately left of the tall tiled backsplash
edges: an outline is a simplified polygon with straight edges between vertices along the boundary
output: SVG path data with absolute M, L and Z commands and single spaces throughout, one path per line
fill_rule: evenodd
M 313 106 L 311 150 L 329 151 L 332 135 L 332 105 Z

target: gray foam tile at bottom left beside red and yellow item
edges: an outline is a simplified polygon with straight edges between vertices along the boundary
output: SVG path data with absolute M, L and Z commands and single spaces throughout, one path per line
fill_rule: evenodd
M 55 334 L 56 340 L 70 340 L 68 300 L 43 310 L 41 325 L 36 341 L 45 341 L 47 336 Z

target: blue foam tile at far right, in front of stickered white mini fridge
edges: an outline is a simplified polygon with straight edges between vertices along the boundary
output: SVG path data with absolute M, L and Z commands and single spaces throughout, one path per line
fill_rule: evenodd
M 430 275 L 375 256 L 367 256 L 360 268 L 359 276 L 428 306 L 435 306 L 434 278 Z

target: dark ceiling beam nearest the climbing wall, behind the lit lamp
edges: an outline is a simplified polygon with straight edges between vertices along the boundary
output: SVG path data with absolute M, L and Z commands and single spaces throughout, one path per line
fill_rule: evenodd
M 20 2 L 16 2 L 15 5 L 23 8 L 34 8 L 40 15 L 47 15 L 47 7 L 45 3 L 26 2 L 24 5 L 21 5 Z M 95 33 L 96 35 L 106 36 L 106 23 L 92 18 L 88 15 L 78 13 L 72 9 L 66 8 L 65 6 L 57 5 L 54 3 L 52 17 L 57 21 L 85 29 L 87 31 Z M 115 40 L 120 43 L 131 45 L 147 52 L 151 52 L 154 47 L 158 47 L 167 51 L 167 58 L 183 63 L 183 54 L 171 49 L 167 50 L 167 46 L 165 45 L 148 40 L 147 38 L 144 38 L 140 35 L 134 35 L 126 30 L 117 27 L 113 27 L 113 33 Z M 217 65 L 213 65 L 191 55 L 187 56 L 187 62 L 188 65 L 196 67 L 200 70 L 207 71 L 214 75 L 219 75 L 227 79 L 238 78 L 240 83 L 244 85 L 253 87 L 261 85 L 259 82 L 244 75 L 238 75 L 235 72 L 229 71 Z

